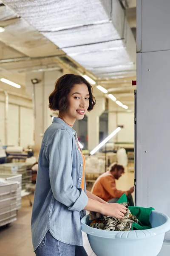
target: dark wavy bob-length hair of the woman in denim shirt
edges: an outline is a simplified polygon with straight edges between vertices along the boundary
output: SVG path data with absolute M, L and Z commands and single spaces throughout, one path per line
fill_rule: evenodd
M 71 91 L 71 88 L 74 87 L 74 84 L 86 84 L 89 91 L 89 107 L 88 111 L 90 112 L 94 105 L 96 104 L 96 99 L 93 96 L 93 88 L 91 84 L 82 76 L 74 75 L 74 74 L 66 74 L 61 76 L 55 82 L 55 89 L 49 96 L 49 104 L 48 107 L 53 110 L 59 110 L 61 112 L 65 112 L 68 107 L 68 99 L 67 95 Z

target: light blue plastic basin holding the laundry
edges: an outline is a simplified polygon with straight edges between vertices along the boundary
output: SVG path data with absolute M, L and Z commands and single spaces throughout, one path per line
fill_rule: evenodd
M 90 227 L 89 214 L 81 219 L 81 229 L 87 233 L 97 256 L 156 256 L 161 250 L 164 234 L 170 230 L 170 218 L 161 212 L 150 214 L 151 229 L 107 231 Z

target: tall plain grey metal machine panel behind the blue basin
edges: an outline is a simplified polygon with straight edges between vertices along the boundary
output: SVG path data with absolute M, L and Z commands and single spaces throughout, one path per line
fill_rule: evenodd
M 170 216 L 170 1 L 137 0 L 136 204 Z M 170 255 L 170 231 L 159 256 Z

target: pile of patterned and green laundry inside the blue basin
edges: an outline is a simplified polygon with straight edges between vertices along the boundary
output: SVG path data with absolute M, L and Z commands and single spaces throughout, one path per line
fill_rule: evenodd
M 127 208 L 123 219 L 105 216 L 99 212 L 90 212 L 90 226 L 100 230 L 110 231 L 146 230 L 151 228 L 149 218 L 150 213 L 152 210 L 154 210 L 154 208 L 129 206 L 125 194 L 119 198 L 117 203 L 122 204 Z

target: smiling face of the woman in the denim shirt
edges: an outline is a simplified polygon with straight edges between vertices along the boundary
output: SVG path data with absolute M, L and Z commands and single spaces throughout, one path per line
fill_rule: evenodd
M 89 91 L 86 84 L 75 84 L 68 93 L 67 115 L 72 119 L 83 119 L 89 107 Z

